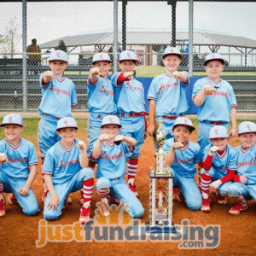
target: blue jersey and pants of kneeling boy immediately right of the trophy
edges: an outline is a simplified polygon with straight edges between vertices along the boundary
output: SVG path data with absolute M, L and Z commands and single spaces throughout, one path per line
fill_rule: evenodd
M 163 150 L 166 154 L 175 143 L 174 138 L 166 140 Z M 173 186 L 180 188 L 190 210 L 201 209 L 201 193 L 195 183 L 195 163 L 201 161 L 200 146 L 188 141 L 184 148 L 175 149 L 175 160 L 172 164 Z

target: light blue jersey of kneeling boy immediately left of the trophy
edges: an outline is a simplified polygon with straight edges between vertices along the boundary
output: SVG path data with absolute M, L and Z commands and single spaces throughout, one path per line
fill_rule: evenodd
M 125 142 L 116 145 L 103 141 L 102 153 L 96 159 L 96 177 L 108 177 L 110 180 L 123 177 L 126 173 L 126 161 L 131 157 L 133 150 L 134 148 L 128 147 Z

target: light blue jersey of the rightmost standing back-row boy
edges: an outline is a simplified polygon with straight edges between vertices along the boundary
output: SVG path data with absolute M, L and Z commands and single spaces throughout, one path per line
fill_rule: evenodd
M 230 122 L 231 108 L 236 107 L 236 97 L 233 87 L 223 79 L 217 82 L 209 78 L 198 79 L 193 88 L 192 98 L 199 94 L 202 88 L 210 84 L 216 92 L 207 95 L 205 102 L 198 107 L 197 119 L 199 121 Z

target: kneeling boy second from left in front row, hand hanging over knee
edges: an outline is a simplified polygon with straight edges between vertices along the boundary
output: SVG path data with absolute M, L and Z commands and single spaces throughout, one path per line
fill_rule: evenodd
M 79 222 L 84 224 L 90 220 L 94 183 L 93 171 L 86 168 L 86 145 L 75 139 L 78 125 L 73 118 L 60 119 L 56 131 L 61 137 L 61 142 L 49 148 L 43 166 L 44 180 L 49 189 L 44 203 L 44 218 L 59 218 L 67 195 L 83 188 L 84 204 L 81 207 Z

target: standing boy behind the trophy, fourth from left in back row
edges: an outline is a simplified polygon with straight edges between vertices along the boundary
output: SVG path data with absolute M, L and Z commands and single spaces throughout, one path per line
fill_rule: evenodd
M 155 132 L 158 119 L 163 120 L 166 140 L 173 137 L 172 125 L 179 116 L 188 110 L 185 95 L 189 85 L 189 74 L 177 72 L 182 55 L 179 49 L 166 48 L 162 61 L 166 66 L 166 72 L 155 77 L 148 90 L 149 100 L 149 125 L 148 135 L 154 136 L 154 148 L 158 150 Z

